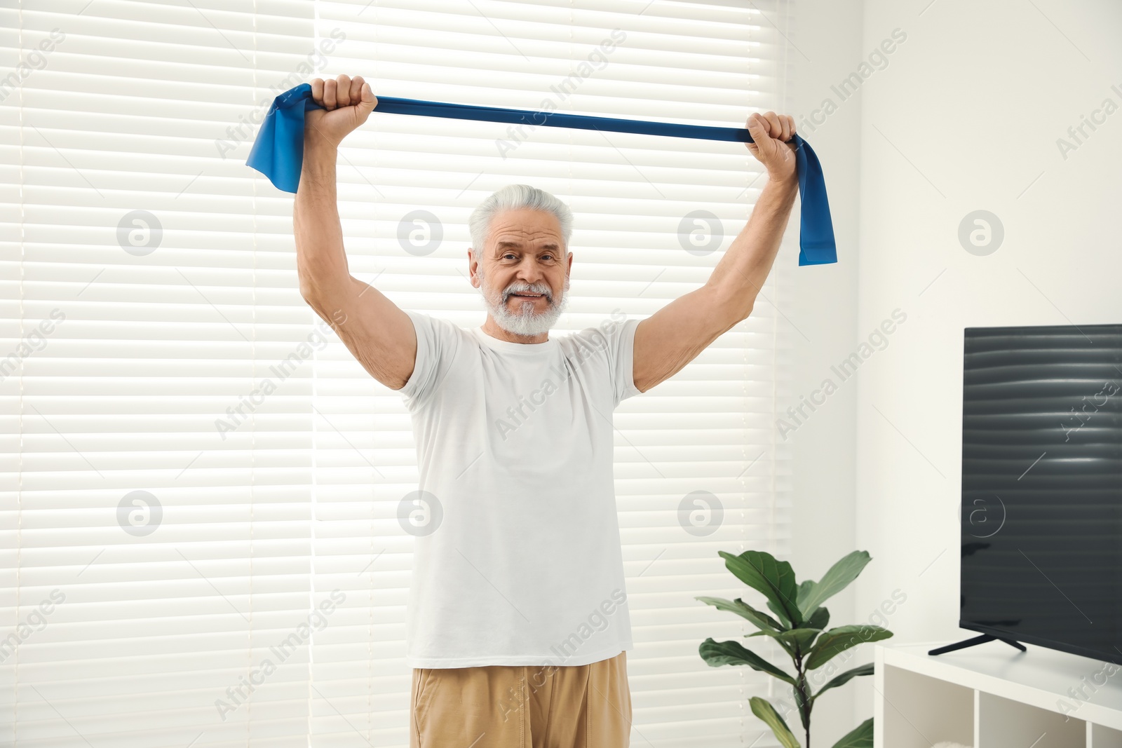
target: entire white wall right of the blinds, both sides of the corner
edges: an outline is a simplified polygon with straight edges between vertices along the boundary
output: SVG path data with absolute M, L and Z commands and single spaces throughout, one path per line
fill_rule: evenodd
M 792 563 L 817 578 L 867 550 L 873 562 L 854 594 L 829 606 L 835 624 L 881 609 L 895 641 L 966 638 L 957 627 L 963 329 L 1122 321 L 1122 3 L 792 7 L 789 111 L 822 159 L 839 255 L 837 266 L 780 270 L 797 372 L 781 404 L 798 405 L 825 378 L 837 385 L 788 435 Z M 891 54 L 863 71 L 885 39 Z M 856 94 L 831 89 L 862 72 Z M 827 99 L 836 109 L 822 108 Z M 1106 99 L 1119 111 L 1072 138 L 1068 128 Z M 1075 148 L 1061 153 L 1060 138 Z M 959 242 L 960 222 L 977 210 L 1004 230 L 990 255 Z M 792 225 L 789 241 L 797 237 Z M 894 310 L 907 320 L 843 380 L 830 367 L 859 354 Z M 858 650 L 853 665 L 872 658 L 870 645 Z M 833 745 L 871 715 L 872 699 L 870 678 L 825 696 L 815 744 Z

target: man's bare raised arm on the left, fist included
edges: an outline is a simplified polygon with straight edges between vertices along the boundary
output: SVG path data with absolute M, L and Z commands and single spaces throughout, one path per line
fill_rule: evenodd
M 413 322 L 377 288 L 351 276 L 335 203 L 339 144 L 378 100 L 360 76 L 311 84 L 312 98 L 324 109 L 304 114 L 304 163 L 292 213 L 300 294 L 371 377 L 401 389 L 416 360 Z

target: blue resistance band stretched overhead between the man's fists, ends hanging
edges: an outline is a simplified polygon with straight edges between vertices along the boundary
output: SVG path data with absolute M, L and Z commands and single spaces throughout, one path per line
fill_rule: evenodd
M 533 112 L 524 109 L 444 104 L 436 101 L 396 96 L 377 96 L 377 99 L 378 103 L 374 111 L 387 114 L 420 114 L 422 117 L 447 117 L 511 124 L 544 124 L 581 130 L 752 142 L 752 136 L 745 128 L 644 122 L 609 117 L 562 114 L 560 112 Z M 312 99 L 310 84 L 301 83 L 282 93 L 273 100 L 273 104 L 261 122 L 261 128 L 257 132 L 257 140 L 254 141 L 254 147 L 249 151 L 246 165 L 267 176 L 277 190 L 294 193 L 300 185 L 300 172 L 304 160 L 304 112 L 310 109 L 323 109 Z M 830 205 L 826 198 L 822 167 L 818 163 L 818 156 L 801 136 L 798 133 L 791 136 L 791 144 L 794 146 L 795 165 L 799 173 L 799 196 L 802 198 L 799 265 L 837 262 L 834 222 L 830 220 Z

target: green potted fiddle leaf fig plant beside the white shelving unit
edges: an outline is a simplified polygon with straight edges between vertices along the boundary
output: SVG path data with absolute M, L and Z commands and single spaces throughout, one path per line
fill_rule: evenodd
M 747 649 L 739 641 L 714 641 L 711 637 L 701 643 L 698 653 L 712 667 L 747 665 L 790 685 L 806 737 L 804 746 L 800 746 L 799 739 L 794 737 L 794 732 L 771 702 L 760 696 L 752 696 L 748 703 L 752 713 L 771 728 L 783 748 L 810 748 L 810 713 L 817 699 L 826 691 L 845 685 L 858 675 L 872 675 L 873 663 L 835 675 L 817 692 L 811 690 L 808 673 L 826 665 L 836 655 L 850 647 L 892 636 L 892 631 L 885 628 L 864 624 L 826 628 L 830 621 L 830 612 L 822 607 L 822 603 L 857 579 L 871 561 L 871 556 L 866 551 L 854 551 L 830 566 L 821 580 L 817 582 L 804 580 L 800 583 L 795 580 L 791 564 L 778 561 L 770 553 L 745 551 L 739 555 L 733 555 L 718 551 L 718 555 L 725 560 L 725 566 L 738 580 L 764 595 L 772 615 L 756 610 L 739 598 L 696 599 L 717 610 L 726 610 L 747 620 L 757 630 L 746 634 L 745 638 L 770 637 L 790 655 L 793 667 L 790 672 L 785 671 Z M 872 748 L 872 718 L 834 744 L 834 748 Z

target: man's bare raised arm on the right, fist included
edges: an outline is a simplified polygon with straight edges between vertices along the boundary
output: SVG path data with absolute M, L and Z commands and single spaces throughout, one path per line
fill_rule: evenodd
M 748 131 L 755 142 L 745 145 L 767 169 L 767 184 L 709 280 L 635 327 L 632 373 L 640 391 L 678 373 L 709 343 L 747 318 L 775 261 L 799 192 L 794 150 L 787 144 L 794 122 L 775 112 L 753 114 Z

